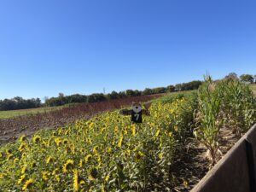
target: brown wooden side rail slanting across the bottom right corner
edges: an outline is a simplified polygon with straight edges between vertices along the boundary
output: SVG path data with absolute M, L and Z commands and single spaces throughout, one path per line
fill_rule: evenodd
M 256 124 L 191 192 L 256 192 Z

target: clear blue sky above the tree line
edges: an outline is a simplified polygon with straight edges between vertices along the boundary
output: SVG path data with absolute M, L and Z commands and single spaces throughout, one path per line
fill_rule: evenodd
M 0 99 L 256 73 L 256 1 L 1 0 Z

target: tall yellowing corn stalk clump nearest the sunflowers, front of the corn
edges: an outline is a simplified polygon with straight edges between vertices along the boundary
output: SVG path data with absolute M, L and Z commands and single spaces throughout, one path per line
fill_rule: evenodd
M 205 79 L 205 83 L 198 91 L 199 109 L 196 113 L 198 126 L 194 130 L 194 135 L 208 149 L 213 166 L 220 158 L 218 138 L 224 120 L 220 115 L 221 100 L 218 97 L 218 90 L 215 89 L 216 84 L 209 76 Z

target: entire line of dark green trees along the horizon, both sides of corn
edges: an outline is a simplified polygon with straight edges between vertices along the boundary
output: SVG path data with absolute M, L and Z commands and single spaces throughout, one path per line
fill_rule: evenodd
M 239 79 L 247 84 L 256 84 L 256 75 L 241 74 L 239 77 L 236 73 L 229 73 L 224 77 L 225 79 Z M 50 97 L 45 99 L 43 104 L 39 98 L 23 99 L 20 96 L 15 96 L 12 99 L 0 100 L 0 111 L 24 109 L 24 108 L 39 108 L 42 106 L 61 106 L 68 103 L 76 102 L 102 102 L 106 100 L 119 99 L 131 96 L 147 96 L 152 94 L 160 94 L 167 92 L 175 92 L 182 90 L 196 90 L 202 84 L 201 81 L 195 80 L 183 84 L 168 85 L 166 87 L 156 87 L 153 89 L 146 88 L 145 90 L 124 90 L 112 91 L 108 94 L 94 93 L 89 96 L 74 94 L 71 96 L 64 96 L 60 93 L 57 97 Z

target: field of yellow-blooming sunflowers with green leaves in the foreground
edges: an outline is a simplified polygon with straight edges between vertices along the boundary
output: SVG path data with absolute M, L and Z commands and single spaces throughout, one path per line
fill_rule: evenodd
M 119 111 L 0 148 L 0 191 L 171 191 L 195 96 L 157 99 L 143 124 Z

